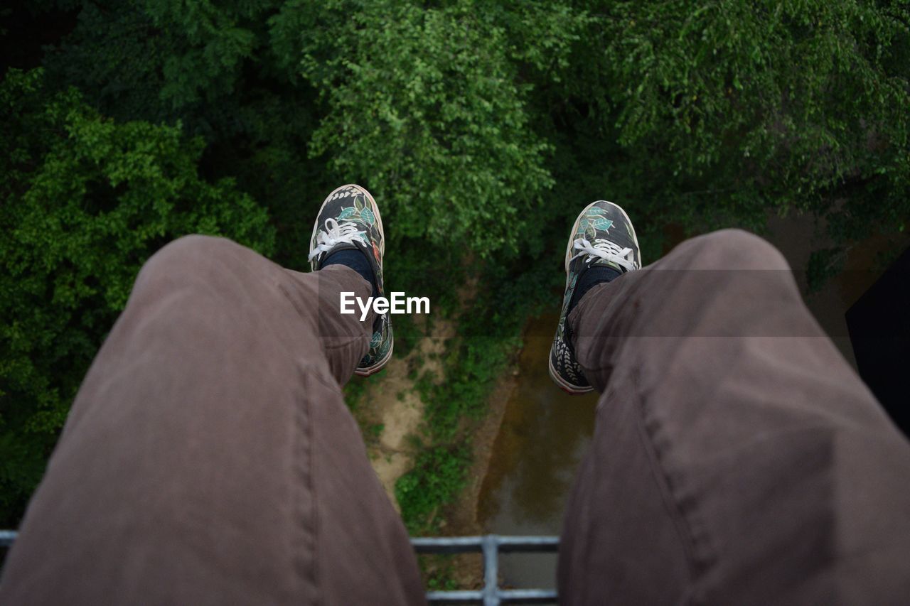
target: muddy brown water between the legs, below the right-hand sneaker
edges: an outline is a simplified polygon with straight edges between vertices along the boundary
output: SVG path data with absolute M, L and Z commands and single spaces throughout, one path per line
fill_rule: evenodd
M 497 534 L 559 534 L 562 511 L 591 441 L 597 395 L 569 396 L 547 373 L 557 315 L 525 330 L 518 386 L 506 405 L 480 491 L 478 518 Z M 513 587 L 555 587 L 556 556 L 514 554 L 500 562 Z

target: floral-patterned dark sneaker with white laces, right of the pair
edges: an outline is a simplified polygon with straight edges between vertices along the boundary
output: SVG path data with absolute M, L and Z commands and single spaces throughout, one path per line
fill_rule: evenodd
M 593 389 L 575 359 L 566 318 L 578 277 L 585 269 L 594 266 L 613 268 L 623 273 L 642 267 L 642 253 L 632 221 L 621 207 L 605 200 L 593 202 L 581 211 L 571 228 L 569 246 L 566 247 L 566 292 L 562 298 L 560 323 L 550 348 L 550 376 L 563 391 L 570 394 Z

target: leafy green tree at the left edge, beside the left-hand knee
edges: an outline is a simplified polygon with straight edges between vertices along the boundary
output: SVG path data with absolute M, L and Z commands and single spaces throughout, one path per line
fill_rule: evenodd
M 197 175 L 200 140 L 116 124 L 75 90 L 48 96 L 40 71 L 0 84 L 0 520 L 35 488 L 96 348 L 141 264 L 187 234 L 270 253 L 265 211 L 234 184 Z

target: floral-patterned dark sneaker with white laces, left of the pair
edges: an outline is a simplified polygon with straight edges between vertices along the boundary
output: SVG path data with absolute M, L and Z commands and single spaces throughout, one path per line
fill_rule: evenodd
M 386 238 L 382 233 L 382 218 L 376 200 L 369 191 L 357 185 L 341 186 L 326 198 L 319 208 L 309 240 L 309 264 L 313 271 L 322 267 L 330 253 L 356 248 L 368 259 L 376 275 L 379 296 L 385 296 L 382 282 L 382 254 Z M 379 372 L 392 356 L 394 338 L 389 313 L 384 313 L 373 323 L 373 336 L 369 351 L 360 360 L 354 372 L 361 377 Z

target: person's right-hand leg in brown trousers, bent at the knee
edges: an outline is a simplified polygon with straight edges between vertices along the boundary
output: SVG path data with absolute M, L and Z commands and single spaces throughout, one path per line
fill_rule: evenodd
M 561 601 L 906 603 L 910 447 L 776 249 L 693 238 L 568 325 L 602 397 Z

